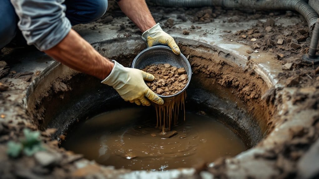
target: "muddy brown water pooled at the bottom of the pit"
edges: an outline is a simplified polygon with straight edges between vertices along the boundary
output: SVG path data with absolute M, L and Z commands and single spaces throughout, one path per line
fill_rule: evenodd
M 243 141 L 214 116 L 186 111 L 186 120 L 160 135 L 150 107 L 131 107 L 97 115 L 73 127 L 62 146 L 115 168 L 189 168 L 246 150 Z M 176 132 L 175 132 L 176 131 Z

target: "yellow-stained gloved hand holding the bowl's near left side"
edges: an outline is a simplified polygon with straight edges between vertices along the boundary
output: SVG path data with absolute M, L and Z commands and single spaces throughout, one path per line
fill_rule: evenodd
M 124 67 L 115 60 L 113 62 L 115 65 L 111 73 L 101 83 L 112 86 L 124 100 L 135 102 L 137 105 L 150 106 L 149 100 L 159 105 L 164 103 L 164 100 L 148 88 L 144 82 L 144 80 L 153 81 L 155 77 L 152 74 Z

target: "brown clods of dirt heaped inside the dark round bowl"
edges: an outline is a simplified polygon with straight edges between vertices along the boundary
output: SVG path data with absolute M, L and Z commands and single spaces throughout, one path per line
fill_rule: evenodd
M 182 91 L 188 82 L 186 70 L 170 64 L 148 65 L 143 71 L 155 76 L 154 81 L 147 82 L 146 85 L 153 92 L 163 96 Z

